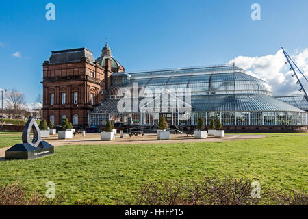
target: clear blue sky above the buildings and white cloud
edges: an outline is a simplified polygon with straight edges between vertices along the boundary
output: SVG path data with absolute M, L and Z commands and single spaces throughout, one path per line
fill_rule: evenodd
M 47 3 L 55 21 L 45 19 Z M 251 19 L 253 3 L 261 21 Z M 17 88 L 33 103 L 51 51 L 87 47 L 99 57 L 106 37 L 127 71 L 223 64 L 281 46 L 302 51 L 307 8 L 307 0 L 1 1 L 0 88 Z

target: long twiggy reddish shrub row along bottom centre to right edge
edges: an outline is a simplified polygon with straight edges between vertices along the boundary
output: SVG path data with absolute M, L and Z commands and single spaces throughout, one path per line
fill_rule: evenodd
M 272 191 L 261 188 L 260 198 L 253 198 L 252 181 L 233 177 L 205 177 L 201 183 L 177 181 L 146 183 L 129 201 L 118 205 L 308 205 L 305 192 Z

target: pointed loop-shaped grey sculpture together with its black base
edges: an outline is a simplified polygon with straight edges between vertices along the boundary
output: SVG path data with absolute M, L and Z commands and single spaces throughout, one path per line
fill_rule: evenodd
M 32 140 L 31 129 L 33 130 Z M 30 117 L 23 128 L 22 140 L 22 144 L 15 144 L 5 151 L 5 159 L 36 159 L 54 153 L 51 144 L 40 141 L 40 129 L 34 117 Z

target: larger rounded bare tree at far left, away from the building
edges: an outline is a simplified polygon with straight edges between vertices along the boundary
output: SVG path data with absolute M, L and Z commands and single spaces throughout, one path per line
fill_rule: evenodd
M 5 107 L 7 110 L 12 110 L 16 118 L 25 107 L 25 95 L 22 92 L 18 92 L 15 88 L 8 90 L 5 93 Z

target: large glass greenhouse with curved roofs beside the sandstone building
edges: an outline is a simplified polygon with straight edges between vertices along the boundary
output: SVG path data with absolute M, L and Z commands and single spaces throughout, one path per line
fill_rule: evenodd
M 220 118 L 224 126 L 307 125 L 307 112 L 272 96 L 266 81 L 234 65 L 114 73 L 89 125 L 196 125 Z

